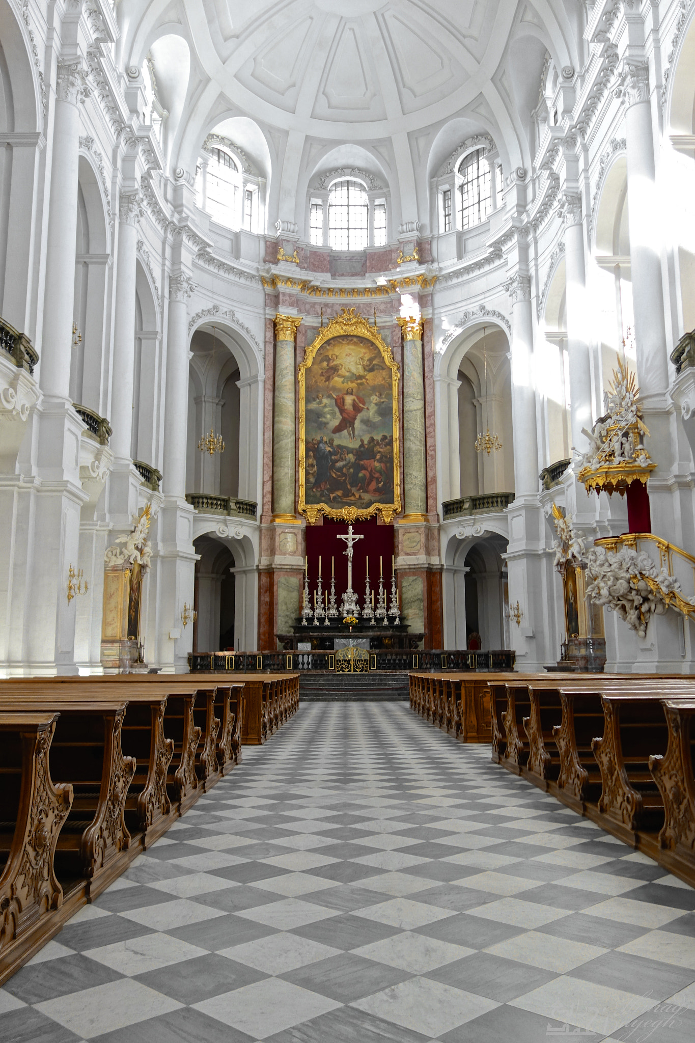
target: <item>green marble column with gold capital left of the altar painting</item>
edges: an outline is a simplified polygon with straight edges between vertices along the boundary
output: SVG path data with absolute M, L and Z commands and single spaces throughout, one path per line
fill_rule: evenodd
M 275 316 L 273 520 L 295 518 L 295 336 L 301 316 Z

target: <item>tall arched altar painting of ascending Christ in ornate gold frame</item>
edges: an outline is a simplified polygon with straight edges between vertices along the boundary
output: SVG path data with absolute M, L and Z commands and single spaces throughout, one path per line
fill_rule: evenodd
M 299 510 L 344 520 L 400 511 L 398 366 L 354 309 L 319 332 L 299 366 Z

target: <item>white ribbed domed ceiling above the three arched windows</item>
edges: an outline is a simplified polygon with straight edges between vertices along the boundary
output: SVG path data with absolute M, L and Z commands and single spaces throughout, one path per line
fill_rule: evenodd
M 200 45 L 209 34 L 197 48 L 203 60 L 216 52 L 207 72 L 248 115 L 369 138 L 472 101 L 499 64 L 515 9 L 508 0 L 206 0 L 205 21 L 191 27 Z

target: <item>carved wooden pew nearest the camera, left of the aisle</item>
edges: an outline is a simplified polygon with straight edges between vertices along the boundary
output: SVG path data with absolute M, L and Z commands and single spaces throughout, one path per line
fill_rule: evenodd
M 53 859 L 70 814 L 73 790 L 55 784 L 49 753 L 59 714 L 0 710 L 0 985 L 49 938 L 74 908 L 64 906 Z M 60 918 L 54 911 L 63 908 Z

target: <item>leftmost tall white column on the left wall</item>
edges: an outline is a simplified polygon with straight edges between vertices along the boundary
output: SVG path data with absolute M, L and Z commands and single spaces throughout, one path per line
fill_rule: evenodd
M 68 398 L 75 296 L 79 105 L 89 95 L 81 60 L 58 62 L 46 238 L 46 285 L 41 350 L 41 388 Z

